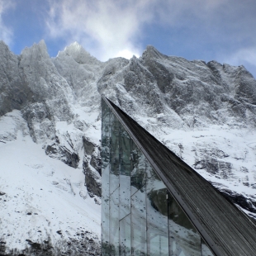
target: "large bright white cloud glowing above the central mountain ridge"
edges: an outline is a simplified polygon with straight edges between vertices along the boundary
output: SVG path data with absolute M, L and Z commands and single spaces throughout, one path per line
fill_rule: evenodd
M 46 26 L 50 37 L 76 40 L 98 59 L 129 58 L 141 54 L 136 39 L 141 26 L 154 17 L 147 12 L 154 1 L 50 1 Z

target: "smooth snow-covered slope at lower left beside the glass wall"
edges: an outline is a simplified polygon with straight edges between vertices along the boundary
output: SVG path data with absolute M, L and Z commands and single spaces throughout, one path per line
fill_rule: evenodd
M 99 238 L 101 206 L 88 197 L 82 168 L 45 154 L 28 135 L 20 111 L 0 120 L 0 238 L 24 249 L 26 239 Z

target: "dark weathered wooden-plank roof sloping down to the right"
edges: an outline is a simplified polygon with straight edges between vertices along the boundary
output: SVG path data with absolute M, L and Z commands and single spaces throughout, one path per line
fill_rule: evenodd
M 211 183 L 102 97 L 216 255 L 256 255 L 256 225 Z

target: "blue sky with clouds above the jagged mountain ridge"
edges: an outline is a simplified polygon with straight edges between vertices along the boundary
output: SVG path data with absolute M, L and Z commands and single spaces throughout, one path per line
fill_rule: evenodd
M 0 0 L 0 40 L 15 54 L 77 41 L 106 61 L 154 45 L 164 55 L 244 65 L 256 78 L 255 0 Z

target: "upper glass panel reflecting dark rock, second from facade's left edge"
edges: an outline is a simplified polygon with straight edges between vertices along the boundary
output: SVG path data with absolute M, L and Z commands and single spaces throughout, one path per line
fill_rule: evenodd
M 111 112 L 110 114 L 111 123 L 111 150 L 110 150 L 110 193 L 119 187 L 119 135 L 120 135 L 120 122 L 116 116 Z

